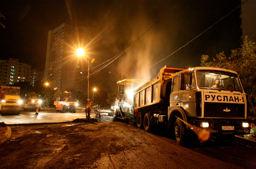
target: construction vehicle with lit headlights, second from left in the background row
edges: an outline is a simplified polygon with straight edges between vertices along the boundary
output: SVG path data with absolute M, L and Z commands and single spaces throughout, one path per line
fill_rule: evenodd
M 39 106 L 39 111 L 41 110 L 42 100 L 40 99 L 40 94 L 35 92 L 26 93 L 22 101 L 22 109 L 27 111 L 35 111 L 36 105 Z

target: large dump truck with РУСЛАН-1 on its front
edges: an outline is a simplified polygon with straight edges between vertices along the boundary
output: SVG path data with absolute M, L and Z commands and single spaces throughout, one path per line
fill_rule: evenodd
M 147 132 L 165 126 L 180 145 L 193 139 L 206 142 L 210 136 L 230 143 L 235 135 L 249 134 L 251 127 L 237 73 L 214 67 L 164 66 L 134 91 L 133 105 L 119 102 L 115 114 Z

